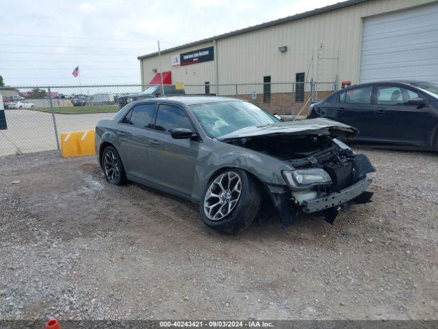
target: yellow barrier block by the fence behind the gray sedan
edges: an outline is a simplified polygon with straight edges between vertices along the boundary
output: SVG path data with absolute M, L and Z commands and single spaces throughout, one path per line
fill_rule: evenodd
M 62 158 L 91 156 L 94 152 L 94 130 L 63 132 L 61 134 Z

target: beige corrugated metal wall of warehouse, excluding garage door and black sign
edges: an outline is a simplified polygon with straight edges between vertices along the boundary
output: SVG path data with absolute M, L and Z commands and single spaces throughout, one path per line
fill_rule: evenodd
M 339 82 L 359 83 L 363 18 L 431 2 L 436 1 L 372 0 L 219 39 L 215 47 L 218 82 L 262 83 L 265 75 L 270 75 L 272 82 L 294 82 L 296 73 L 305 72 L 307 81 L 313 77 L 318 82 L 333 82 L 337 75 Z M 172 82 L 204 84 L 209 81 L 215 84 L 214 61 L 171 68 L 172 55 L 211 45 L 213 42 L 165 53 L 162 55 L 163 71 L 172 71 Z M 280 46 L 287 46 L 287 51 L 281 53 Z M 142 75 L 147 83 L 153 77 L 152 69 L 158 70 L 158 57 L 142 61 Z

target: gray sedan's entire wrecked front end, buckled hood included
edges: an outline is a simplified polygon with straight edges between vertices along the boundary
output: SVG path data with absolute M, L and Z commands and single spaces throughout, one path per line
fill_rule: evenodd
M 329 119 L 311 119 L 246 127 L 221 141 L 253 149 L 283 161 L 285 185 L 266 183 L 283 228 L 300 212 L 324 212 L 333 223 L 340 207 L 371 201 L 367 173 L 375 171 L 363 154 L 337 138 L 352 139 L 357 130 Z M 275 169 L 274 169 L 275 170 Z

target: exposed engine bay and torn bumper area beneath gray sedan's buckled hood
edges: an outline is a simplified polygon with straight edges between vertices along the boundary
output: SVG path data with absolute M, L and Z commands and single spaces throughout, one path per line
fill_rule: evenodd
M 333 223 L 340 205 L 346 200 L 352 204 L 371 200 L 372 193 L 364 191 L 371 182 L 366 179 L 366 174 L 375 171 L 370 160 L 326 134 L 271 134 L 235 138 L 227 143 L 269 154 L 287 162 L 296 172 L 322 169 L 329 175 L 330 183 L 283 189 L 268 186 L 283 228 L 292 224 L 300 210 L 322 210 L 326 221 Z

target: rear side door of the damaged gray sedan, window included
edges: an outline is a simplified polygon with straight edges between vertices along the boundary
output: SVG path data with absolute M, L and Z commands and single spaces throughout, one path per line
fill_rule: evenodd
M 146 179 L 149 171 L 147 149 L 156 103 L 139 104 L 120 121 L 116 132 L 119 154 L 127 175 Z

